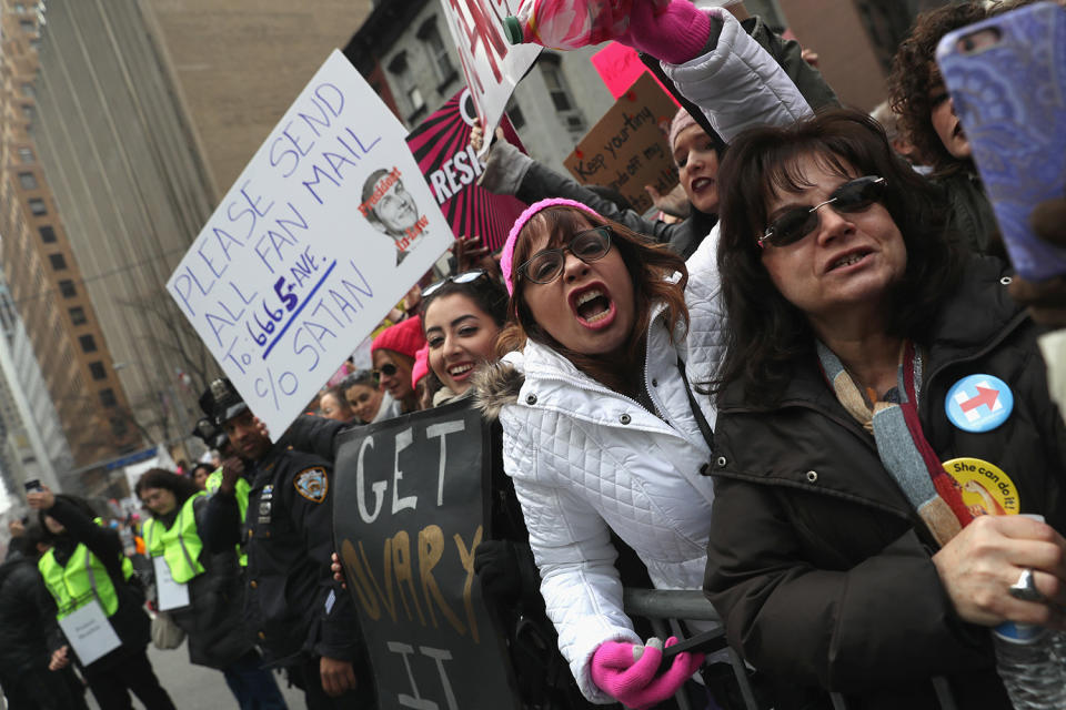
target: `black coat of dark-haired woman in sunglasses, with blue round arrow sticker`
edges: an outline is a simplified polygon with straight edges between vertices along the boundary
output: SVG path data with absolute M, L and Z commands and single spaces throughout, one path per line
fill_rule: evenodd
M 1066 432 L 1037 327 L 1008 298 L 998 261 L 973 257 L 965 270 L 925 351 L 926 439 L 941 460 L 995 464 L 1017 485 L 1022 513 L 1066 531 Z M 1014 394 L 1009 418 L 985 434 L 956 428 L 944 406 L 951 386 L 977 373 Z M 720 397 L 715 449 L 705 591 L 730 643 L 800 687 L 780 708 L 828 707 L 824 689 L 849 707 L 936 708 L 937 676 L 959 708 L 1010 707 L 988 630 L 956 616 L 931 561 L 936 542 L 815 356 L 773 408 L 750 406 L 733 383 Z

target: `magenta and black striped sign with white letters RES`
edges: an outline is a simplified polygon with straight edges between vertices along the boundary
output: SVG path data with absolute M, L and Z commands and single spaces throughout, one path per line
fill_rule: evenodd
M 496 195 L 475 183 L 482 166 L 470 146 L 475 113 L 470 89 L 462 89 L 440 111 L 431 114 L 408 136 L 408 145 L 430 184 L 436 204 L 455 236 L 480 236 L 492 250 L 503 246 L 511 225 L 525 204 L 511 195 Z M 502 126 L 511 143 L 519 136 L 504 116 Z

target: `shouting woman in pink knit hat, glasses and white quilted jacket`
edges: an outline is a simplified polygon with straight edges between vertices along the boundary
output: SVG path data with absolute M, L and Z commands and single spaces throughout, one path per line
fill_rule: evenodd
M 511 292 L 500 351 L 511 352 L 479 381 L 479 400 L 503 425 L 541 594 L 585 697 L 650 707 L 702 656 L 657 672 L 662 641 L 642 645 L 623 610 L 611 531 L 656 587 L 700 587 L 714 414 L 691 396 L 684 363 L 713 359 L 697 346 L 717 318 L 686 291 L 680 256 L 570 200 L 529 207 L 500 265 Z

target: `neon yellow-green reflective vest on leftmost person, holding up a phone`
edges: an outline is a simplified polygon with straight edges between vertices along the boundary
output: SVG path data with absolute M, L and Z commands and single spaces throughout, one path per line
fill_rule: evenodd
M 95 518 L 97 525 L 101 524 Z M 119 596 L 111 584 L 111 576 L 100 559 L 89 551 L 83 542 L 74 548 L 66 567 L 56 561 L 54 550 L 48 550 L 37 562 L 44 578 L 44 586 L 56 598 L 57 619 L 62 619 L 97 599 L 104 616 L 110 617 L 119 609 Z M 133 564 L 122 556 L 122 578 L 133 576 Z

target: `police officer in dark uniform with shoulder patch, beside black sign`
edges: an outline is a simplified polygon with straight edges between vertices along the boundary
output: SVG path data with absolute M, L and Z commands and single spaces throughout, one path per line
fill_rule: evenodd
M 245 540 L 244 626 L 266 661 L 284 667 L 308 708 L 373 708 L 351 598 L 330 570 L 333 548 L 331 467 L 275 446 L 228 379 L 211 383 L 211 410 L 237 456 L 208 504 L 212 550 Z M 250 474 L 248 519 L 241 525 L 237 484 Z M 355 663 L 362 683 L 356 690 Z

